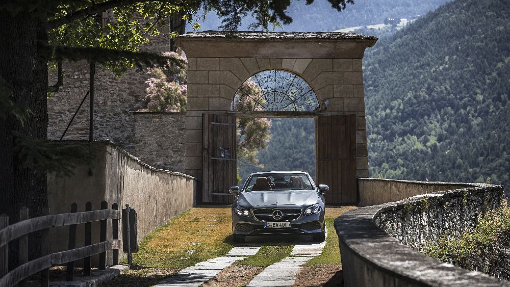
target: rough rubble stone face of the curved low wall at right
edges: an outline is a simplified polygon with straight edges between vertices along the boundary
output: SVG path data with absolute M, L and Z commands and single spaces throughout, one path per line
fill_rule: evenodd
M 478 187 L 423 194 L 379 205 L 374 222 L 403 244 L 420 250 L 444 233 L 472 231 L 478 216 L 501 203 L 502 186 Z

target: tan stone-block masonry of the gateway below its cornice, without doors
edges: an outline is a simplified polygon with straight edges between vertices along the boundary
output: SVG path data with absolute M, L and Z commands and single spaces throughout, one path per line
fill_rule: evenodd
M 356 115 L 357 175 L 368 176 L 362 59 L 188 58 L 188 65 L 187 174 L 202 177 L 202 113 L 229 111 L 236 90 L 249 76 L 284 69 L 312 86 L 322 111 Z

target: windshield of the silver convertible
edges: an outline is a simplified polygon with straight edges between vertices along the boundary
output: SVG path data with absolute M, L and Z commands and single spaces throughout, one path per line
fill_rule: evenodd
M 245 191 L 314 190 L 303 173 L 265 173 L 252 175 Z

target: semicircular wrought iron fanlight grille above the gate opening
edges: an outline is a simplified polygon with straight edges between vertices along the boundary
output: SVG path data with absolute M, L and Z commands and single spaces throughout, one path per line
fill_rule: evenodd
M 307 81 L 284 70 L 266 70 L 249 77 L 232 100 L 234 111 L 311 112 L 319 101 Z

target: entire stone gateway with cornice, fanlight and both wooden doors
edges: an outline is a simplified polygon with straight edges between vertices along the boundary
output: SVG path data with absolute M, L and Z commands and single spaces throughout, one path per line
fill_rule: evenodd
M 233 200 L 236 117 L 311 117 L 326 203 L 356 203 L 356 177 L 368 176 L 362 59 L 376 41 L 334 32 L 177 37 L 188 57 L 185 172 L 202 182 L 198 201 Z

